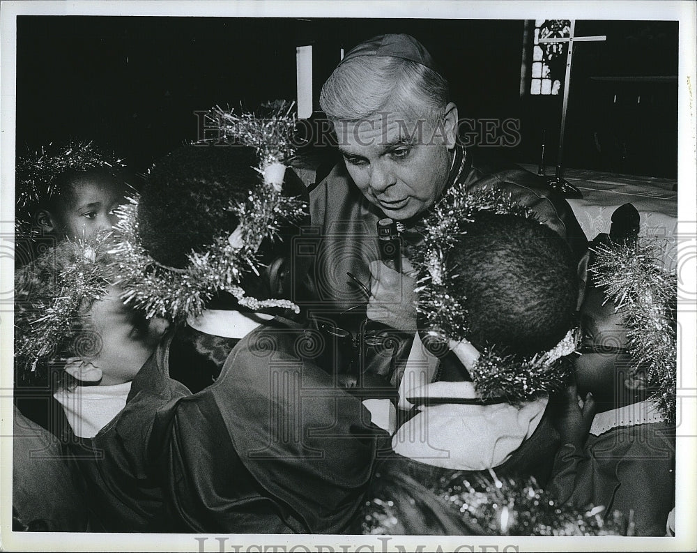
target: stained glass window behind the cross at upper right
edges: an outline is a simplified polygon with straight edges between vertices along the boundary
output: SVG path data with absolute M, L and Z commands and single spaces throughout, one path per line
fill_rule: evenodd
M 570 20 L 535 20 L 533 56 L 530 63 L 530 94 L 557 95 L 564 82 L 567 45 L 539 44 L 540 38 L 568 38 Z M 525 45 L 526 48 L 529 45 Z

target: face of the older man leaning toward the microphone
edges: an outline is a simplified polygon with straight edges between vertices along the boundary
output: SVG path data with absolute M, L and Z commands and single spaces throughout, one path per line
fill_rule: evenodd
M 457 108 L 446 108 L 443 124 L 380 113 L 361 121 L 335 121 L 346 169 L 369 202 L 395 220 L 431 207 L 450 171 L 448 147 Z M 454 113 L 453 113 L 454 112 Z

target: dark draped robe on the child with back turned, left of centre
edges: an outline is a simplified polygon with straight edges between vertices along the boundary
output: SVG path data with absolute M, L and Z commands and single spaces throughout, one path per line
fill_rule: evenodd
M 303 337 L 277 317 L 240 340 L 195 394 L 169 376 L 164 341 L 123 411 L 73 448 L 95 529 L 352 533 L 389 441 L 359 400 L 302 357 Z

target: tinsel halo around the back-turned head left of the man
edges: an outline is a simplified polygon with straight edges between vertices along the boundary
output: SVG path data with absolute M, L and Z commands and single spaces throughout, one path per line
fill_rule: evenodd
M 296 118 L 284 105 L 269 119 L 258 120 L 252 114 L 240 118 L 246 122 L 238 128 L 238 144 L 254 146 L 259 153 L 259 179 L 249 191 L 245 202 L 230 201 L 224 209 L 234 213 L 236 229 L 220 229 L 213 243 L 201 251 L 192 250 L 183 268 L 164 266 L 153 259 L 143 247 L 139 236 L 137 210 L 139 199 L 117 210 L 116 229 L 121 238 L 112 250 L 116 260 L 118 284 L 125 290 L 124 303 L 144 310 L 146 317 L 156 315 L 171 320 L 197 317 L 213 296 L 227 292 L 239 305 L 250 310 L 282 308 L 299 311 L 296 304 L 285 299 L 264 299 L 247 296 L 240 285 L 244 275 L 259 275 L 259 245 L 286 224 L 301 220 L 307 205 L 298 197 L 282 194 L 285 165 L 293 155 L 291 141 Z M 227 132 L 232 135 L 233 130 Z M 201 147 L 216 147 L 203 145 Z

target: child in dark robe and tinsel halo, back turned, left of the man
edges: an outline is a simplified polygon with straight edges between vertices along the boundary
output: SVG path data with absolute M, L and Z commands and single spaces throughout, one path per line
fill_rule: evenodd
M 97 528 L 341 533 L 355 522 L 381 434 L 304 355 L 316 333 L 282 316 L 295 307 L 285 297 L 300 271 L 289 254 L 302 202 L 277 190 L 282 173 L 262 184 L 250 162 L 241 146 L 184 146 L 121 215 L 123 298 L 176 325 L 125 407 L 73 448 L 100 452 L 81 460 Z M 193 337 L 184 347 L 182 328 Z M 184 349 L 188 366 L 175 353 Z

